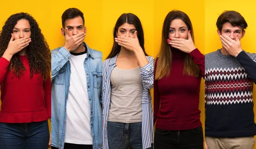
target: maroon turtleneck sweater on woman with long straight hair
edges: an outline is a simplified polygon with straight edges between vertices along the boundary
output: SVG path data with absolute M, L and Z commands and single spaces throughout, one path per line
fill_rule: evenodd
M 200 68 L 200 77 L 183 76 L 185 55 L 178 49 L 172 49 L 169 77 L 154 80 L 154 123 L 157 121 L 158 129 L 188 130 L 202 125 L 198 107 L 201 78 L 204 77 L 204 55 L 198 49 L 189 53 Z

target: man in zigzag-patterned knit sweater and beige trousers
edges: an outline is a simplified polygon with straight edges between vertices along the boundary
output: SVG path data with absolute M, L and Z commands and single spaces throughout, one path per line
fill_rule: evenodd
M 236 11 L 216 22 L 222 49 L 205 55 L 205 141 L 209 149 L 253 149 L 256 54 L 242 50 L 247 23 Z

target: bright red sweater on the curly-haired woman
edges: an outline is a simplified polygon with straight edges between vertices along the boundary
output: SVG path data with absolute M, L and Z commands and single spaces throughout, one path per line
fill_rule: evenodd
M 19 56 L 26 67 L 20 78 L 8 70 L 10 62 L 0 58 L 1 123 L 30 123 L 51 117 L 51 80 L 41 74 L 30 77 L 27 55 Z

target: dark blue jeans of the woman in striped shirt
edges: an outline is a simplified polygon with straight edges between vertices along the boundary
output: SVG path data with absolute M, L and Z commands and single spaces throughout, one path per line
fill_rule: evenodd
M 142 123 L 108 121 L 109 149 L 142 149 Z M 150 148 L 153 149 L 153 148 Z

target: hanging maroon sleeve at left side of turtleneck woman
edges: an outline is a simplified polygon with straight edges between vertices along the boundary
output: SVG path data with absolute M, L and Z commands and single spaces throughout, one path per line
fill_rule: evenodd
M 154 75 L 155 75 L 156 68 L 157 68 L 157 59 L 155 62 Z M 160 93 L 158 90 L 158 80 L 154 80 L 154 123 L 157 120 L 157 112 L 159 110 L 159 106 L 160 106 Z

